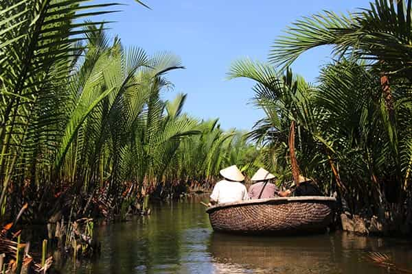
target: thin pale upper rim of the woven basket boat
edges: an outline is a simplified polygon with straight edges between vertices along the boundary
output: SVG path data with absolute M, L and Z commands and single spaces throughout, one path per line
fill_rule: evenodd
M 291 202 L 336 202 L 334 197 L 325 197 L 325 196 L 300 196 L 300 197 L 275 197 L 275 198 L 266 198 L 266 199 L 251 199 L 244 201 L 234 201 L 230 203 L 218 203 L 215 206 L 210 206 L 206 209 L 207 213 L 214 212 L 221 208 L 229 208 L 233 206 L 247 206 L 260 203 L 291 203 Z

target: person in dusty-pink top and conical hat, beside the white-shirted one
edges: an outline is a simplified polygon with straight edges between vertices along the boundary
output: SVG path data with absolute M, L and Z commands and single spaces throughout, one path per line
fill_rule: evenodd
M 266 199 L 290 195 L 290 190 L 280 191 L 275 184 L 269 182 L 272 179 L 275 179 L 275 175 L 260 168 L 251 179 L 255 184 L 249 188 L 249 198 Z

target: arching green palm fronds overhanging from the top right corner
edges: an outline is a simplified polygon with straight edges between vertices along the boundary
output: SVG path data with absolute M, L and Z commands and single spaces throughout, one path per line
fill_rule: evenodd
M 275 41 L 270 60 L 289 66 L 309 49 L 332 45 L 341 56 L 369 60 L 382 73 L 411 81 L 411 5 L 376 0 L 347 15 L 326 11 L 301 18 Z

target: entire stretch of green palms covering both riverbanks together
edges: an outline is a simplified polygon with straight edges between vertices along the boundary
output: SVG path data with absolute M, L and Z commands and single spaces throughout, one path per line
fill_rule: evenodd
M 167 73 L 184 69 L 181 60 L 108 38 L 96 15 L 115 3 L 1 5 L 1 219 L 26 202 L 32 223 L 122 215 L 149 195 L 210 186 L 230 164 L 248 174 L 263 165 L 290 181 L 292 140 L 300 173 L 346 210 L 410 223 L 411 1 L 301 18 L 268 63 L 233 64 L 229 77 L 253 79 L 266 113 L 248 134 L 185 114 L 186 95 L 165 101 Z M 288 69 L 321 45 L 333 47 L 334 61 L 317 83 Z

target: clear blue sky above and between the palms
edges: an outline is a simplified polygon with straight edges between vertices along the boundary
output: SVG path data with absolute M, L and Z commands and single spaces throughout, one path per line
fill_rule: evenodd
M 165 98 L 187 93 L 185 112 L 199 119 L 219 118 L 224 129 L 247 130 L 263 113 L 249 103 L 253 82 L 226 79 L 231 63 L 244 57 L 265 61 L 275 38 L 301 16 L 369 5 L 365 0 L 144 0 L 152 8 L 148 10 L 130 0 L 121 3 L 128 4 L 123 12 L 106 18 L 117 21 L 111 34 L 118 34 L 126 47 L 171 51 L 186 67 L 168 75 L 175 88 Z M 309 51 L 293 71 L 314 82 L 329 56 L 327 48 Z

